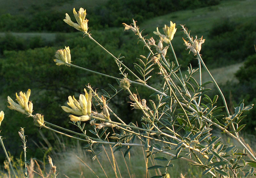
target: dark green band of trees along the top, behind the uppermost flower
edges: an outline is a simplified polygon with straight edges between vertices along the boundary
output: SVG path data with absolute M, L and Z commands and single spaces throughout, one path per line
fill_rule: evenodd
M 54 3 L 54 2 L 52 2 Z M 56 3 L 56 2 L 55 2 Z M 119 27 L 122 23 L 130 24 L 131 19 L 143 21 L 167 13 L 186 9 L 217 5 L 220 0 L 109 0 L 105 4 L 91 9 L 87 19 L 90 19 L 90 27 L 99 29 L 102 27 Z M 0 31 L 12 32 L 74 32 L 75 29 L 68 26 L 65 19 L 66 11 L 51 10 L 54 4 L 45 3 L 42 6 L 32 5 L 28 8 L 30 15 L 11 15 L 9 13 L 0 16 Z M 86 7 L 86 4 L 84 5 Z M 78 11 L 79 7 L 76 7 Z M 73 14 L 72 7 L 68 14 Z M 70 16 L 73 21 L 72 16 Z M 40 22 L 40 23 L 38 23 Z

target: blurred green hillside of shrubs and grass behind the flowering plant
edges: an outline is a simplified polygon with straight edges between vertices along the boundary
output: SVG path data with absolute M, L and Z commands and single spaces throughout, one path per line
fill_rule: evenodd
M 4 110 L 8 122 L 2 123 L 1 134 L 6 140 L 12 138 L 13 142 L 6 144 L 7 150 L 15 156 L 20 155 L 17 149 L 20 138 L 17 135 L 19 127 L 26 127 L 26 134 L 37 144 L 37 133 L 33 121 L 23 118 L 19 113 L 6 108 L 7 96 L 14 98 L 15 92 L 32 90 L 31 99 L 34 110 L 45 115 L 45 120 L 67 127 L 68 115 L 60 106 L 64 105 L 69 95 L 78 95 L 83 91 L 84 85 L 90 82 L 92 86 L 107 88 L 108 83 L 116 86 L 115 80 L 92 75 L 74 68 L 57 67 L 54 62 L 55 51 L 69 46 L 74 64 L 85 68 L 110 73 L 118 76 L 116 64 L 110 56 L 100 50 L 82 33 L 68 26 L 63 19 L 65 13 L 72 14 L 72 8 L 78 10 L 83 7 L 87 10 L 89 30 L 93 37 L 103 44 L 105 48 L 116 56 L 125 56 L 124 63 L 132 67 L 139 55 L 147 55 L 143 51 L 142 43 L 129 32 L 125 32 L 121 23 L 130 24 L 132 18 L 138 21 L 141 29 L 148 38 L 172 20 L 176 24 L 186 24 L 193 36 L 204 35 L 206 39 L 201 53 L 210 68 L 239 64 L 243 67 L 233 70 L 235 79 L 222 83 L 224 95 L 229 96 L 229 107 L 232 109 L 240 100 L 245 99 L 246 104 L 255 104 L 255 65 L 256 55 L 253 45 L 256 44 L 256 1 L 254 0 L 194 0 L 194 1 L 37 1 L 27 0 L 14 3 L 14 1 L 0 0 L 0 110 Z M 72 18 L 72 17 L 71 17 Z M 179 26 L 177 26 L 179 29 Z M 197 61 L 193 55 L 185 51 L 181 37 L 182 32 L 175 34 L 173 46 L 180 58 L 182 69 L 191 63 L 196 67 Z M 171 56 L 168 55 L 167 56 Z M 172 60 L 172 59 L 170 59 Z M 226 68 L 227 70 L 228 68 Z M 217 82 L 225 82 L 223 77 Z M 214 74 L 213 74 L 214 75 Z M 227 76 L 226 78 L 232 78 Z M 137 88 L 140 91 L 140 88 Z M 214 95 L 214 88 L 213 95 Z M 111 90 L 109 90 L 111 91 Z M 133 91 L 136 93 L 136 91 Z M 149 91 L 140 91 L 141 98 Z M 116 113 L 126 115 L 127 121 L 139 121 L 131 117 L 126 93 L 120 93 L 112 108 Z M 122 98 L 120 103 L 119 98 Z M 222 103 L 219 103 L 222 105 Z M 256 121 L 254 108 L 244 119 L 248 133 L 255 134 Z M 44 132 L 44 130 L 42 130 Z M 36 133 L 36 134 L 35 134 Z M 44 133 L 50 142 L 54 139 Z M 15 140 L 16 139 L 16 140 Z M 33 142 L 28 142 L 28 157 L 32 155 L 40 158 L 41 151 Z M 34 154 L 36 152 L 36 154 Z M 40 153 L 40 154 L 39 154 Z M 0 152 L 0 160 L 5 159 Z M 3 161 L 0 161 L 3 162 Z

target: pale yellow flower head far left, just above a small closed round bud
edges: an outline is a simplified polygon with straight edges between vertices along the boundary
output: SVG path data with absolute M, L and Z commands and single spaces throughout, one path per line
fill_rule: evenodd
M 29 100 L 30 96 L 30 89 L 28 89 L 27 93 L 20 92 L 20 96 L 16 93 L 16 100 L 19 104 L 15 103 L 10 96 L 7 97 L 8 103 L 10 106 L 7 106 L 10 109 L 14 109 L 16 111 L 19 111 L 23 114 L 26 114 L 26 112 L 31 115 L 33 112 L 33 103 Z M 28 104 L 29 102 L 29 104 Z

